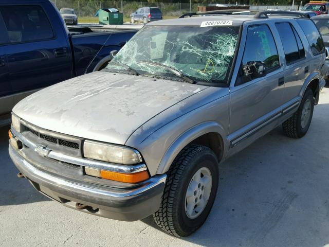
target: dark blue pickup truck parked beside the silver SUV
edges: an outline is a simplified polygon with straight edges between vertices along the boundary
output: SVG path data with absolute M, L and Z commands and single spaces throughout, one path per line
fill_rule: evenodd
M 118 27 L 67 28 L 48 0 L 1 0 L 0 126 L 27 95 L 106 66 L 138 31 Z

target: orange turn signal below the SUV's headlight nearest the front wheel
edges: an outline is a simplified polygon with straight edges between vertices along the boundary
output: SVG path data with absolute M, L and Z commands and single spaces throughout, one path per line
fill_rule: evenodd
M 134 184 L 147 180 L 149 178 L 149 173 L 147 171 L 140 171 L 136 173 L 120 173 L 101 170 L 101 178 Z

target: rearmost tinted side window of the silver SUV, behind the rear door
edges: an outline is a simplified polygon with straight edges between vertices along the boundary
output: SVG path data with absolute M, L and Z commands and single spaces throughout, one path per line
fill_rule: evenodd
M 324 52 L 323 40 L 315 24 L 310 20 L 298 19 L 296 21 L 305 33 L 313 55 Z

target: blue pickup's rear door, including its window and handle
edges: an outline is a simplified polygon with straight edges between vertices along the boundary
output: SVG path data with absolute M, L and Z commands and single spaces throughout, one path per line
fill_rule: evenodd
M 59 19 L 50 2 L 0 5 L 9 38 L 3 49 L 15 101 L 72 77 L 68 38 L 64 32 L 55 32 L 45 8 L 51 20 Z

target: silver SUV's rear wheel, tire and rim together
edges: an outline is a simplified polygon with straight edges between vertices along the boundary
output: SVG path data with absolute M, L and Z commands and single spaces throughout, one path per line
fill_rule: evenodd
M 306 89 L 297 112 L 282 123 L 283 132 L 291 138 L 303 137 L 312 121 L 314 96 L 312 90 Z

